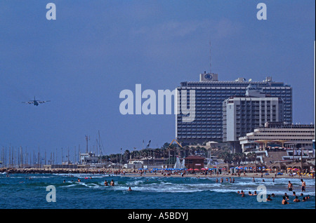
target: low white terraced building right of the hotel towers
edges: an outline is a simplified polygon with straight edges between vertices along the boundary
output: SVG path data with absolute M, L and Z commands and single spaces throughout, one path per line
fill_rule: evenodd
M 315 125 L 268 122 L 253 132 L 239 137 L 242 151 L 263 151 L 267 149 L 287 149 L 288 158 L 302 156 L 300 151 L 308 151 L 315 157 L 312 140 L 315 140 Z

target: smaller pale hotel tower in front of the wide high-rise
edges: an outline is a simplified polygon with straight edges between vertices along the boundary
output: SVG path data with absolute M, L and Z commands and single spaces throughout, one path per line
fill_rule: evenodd
M 230 142 L 233 153 L 241 152 L 239 137 L 264 126 L 268 121 L 283 121 L 282 98 L 263 93 L 249 85 L 244 96 L 232 96 L 223 102 L 223 142 Z

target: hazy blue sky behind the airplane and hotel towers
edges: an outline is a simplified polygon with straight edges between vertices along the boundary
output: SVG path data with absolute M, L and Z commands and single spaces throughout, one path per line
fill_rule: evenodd
M 198 81 L 210 40 L 219 80 L 284 81 L 294 123 L 314 123 L 314 0 L 0 1 L 0 148 L 84 151 L 98 130 L 104 154 L 171 142 L 174 115 L 124 116 L 119 93 Z M 51 102 L 21 103 L 34 96 Z

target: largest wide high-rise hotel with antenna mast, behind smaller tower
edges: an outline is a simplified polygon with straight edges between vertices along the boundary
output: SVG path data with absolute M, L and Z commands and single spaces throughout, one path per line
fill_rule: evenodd
M 235 81 L 219 81 L 218 74 L 199 74 L 199 81 L 181 82 L 177 90 L 187 90 L 187 103 L 190 103 L 190 90 L 195 91 L 195 119 L 183 121 L 181 112 L 176 115 L 176 140 L 182 145 L 203 144 L 209 141 L 223 142 L 223 101 L 233 95 L 244 95 L 251 85 L 261 87 L 263 93 L 280 97 L 284 101 L 284 121 L 292 122 L 292 88 L 283 82 L 246 81 L 238 78 Z M 181 108 L 182 94 L 177 95 L 178 111 Z

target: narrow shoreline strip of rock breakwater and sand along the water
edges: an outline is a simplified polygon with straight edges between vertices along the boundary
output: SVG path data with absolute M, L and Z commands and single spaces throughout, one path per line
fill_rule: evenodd
M 125 172 L 122 173 L 122 172 Z M 240 176 L 231 173 L 221 173 L 221 174 L 208 174 L 204 175 L 202 173 L 185 173 L 184 176 L 178 174 L 165 174 L 162 172 L 157 173 L 150 173 L 146 172 L 145 174 L 141 174 L 138 172 L 138 170 L 135 170 L 134 173 L 133 169 L 44 169 L 44 168 L 0 168 L 0 173 L 2 174 L 86 174 L 86 175 L 111 175 L 111 176 L 121 176 L 121 177 L 199 177 L 199 178 L 239 178 L 239 177 L 254 177 L 254 178 L 265 178 L 265 179 L 272 179 L 274 177 L 277 178 L 289 178 L 289 179 L 314 179 L 311 176 L 305 176 L 305 175 L 294 175 L 290 176 L 287 175 L 287 173 L 283 173 L 283 175 L 275 175 L 275 173 L 269 173 L 268 175 L 265 175 L 263 173 L 263 176 L 261 177 L 261 173 L 241 173 Z M 121 172 L 121 173 L 119 173 Z

